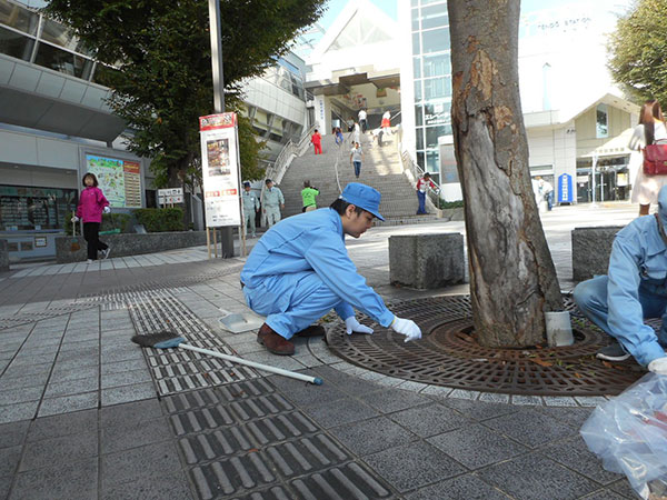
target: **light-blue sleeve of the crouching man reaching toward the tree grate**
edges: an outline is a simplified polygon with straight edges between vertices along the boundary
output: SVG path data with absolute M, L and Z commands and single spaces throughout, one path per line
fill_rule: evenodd
M 387 309 L 382 298 L 366 284 L 366 279 L 357 272 L 340 237 L 328 231 L 311 236 L 312 243 L 303 257 L 325 284 L 346 302 L 337 307 L 336 312 L 342 319 L 347 319 L 354 314 L 354 307 L 370 316 L 382 327 L 391 324 L 394 313 Z M 344 318 L 346 314 L 347 318 Z

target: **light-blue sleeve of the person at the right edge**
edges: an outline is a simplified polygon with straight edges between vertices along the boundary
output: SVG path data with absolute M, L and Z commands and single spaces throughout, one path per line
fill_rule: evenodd
M 640 249 L 639 236 L 630 232 L 614 240 L 609 260 L 607 284 L 607 322 L 614 336 L 640 364 L 664 358 L 653 328 L 644 324 L 644 310 L 639 302 Z

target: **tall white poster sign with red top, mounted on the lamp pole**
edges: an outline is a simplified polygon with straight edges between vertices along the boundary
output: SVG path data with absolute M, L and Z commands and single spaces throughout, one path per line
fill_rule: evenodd
M 236 113 L 199 117 L 206 226 L 241 224 Z

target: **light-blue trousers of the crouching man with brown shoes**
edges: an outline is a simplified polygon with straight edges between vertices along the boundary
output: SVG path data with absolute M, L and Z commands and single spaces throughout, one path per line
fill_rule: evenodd
M 266 316 L 266 323 L 288 340 L 341 302 L 313 271 L 271 277 L 243 287 L 243 296 L 250 309 Z

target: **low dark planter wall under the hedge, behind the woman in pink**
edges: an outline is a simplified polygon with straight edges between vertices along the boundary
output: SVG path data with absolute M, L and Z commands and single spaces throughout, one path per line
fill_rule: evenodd
M 76 237 L 81 248 L 72 252 L 74 238 L 56 238 L 56 260 L 59 263 L 81 262 L 87 258 L 87 243 L 82 237 Z M 102 234 L 100 239 L 111 247 L 111 257 L 139 256 L 161 252 L 176 248 L 206 244 L 206 231 L 149 232 L 147 234 Z

